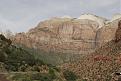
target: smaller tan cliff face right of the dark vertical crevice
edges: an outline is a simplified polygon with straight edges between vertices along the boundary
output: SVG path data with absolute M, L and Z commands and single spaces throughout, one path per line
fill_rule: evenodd
M 100 47 L 115 38 L 115 32 L 118 28 L 118 22 L 120 20 L 121 18 L 114 21 L 108 21 L 107 24 L 97 31 L 97 47 Z

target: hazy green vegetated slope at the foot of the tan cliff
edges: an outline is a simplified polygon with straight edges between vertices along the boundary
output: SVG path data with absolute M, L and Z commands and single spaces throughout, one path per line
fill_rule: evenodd
M 51 64 L 54 66 L 74 62 L 82 58 L 81 54 L 70 54 L 70 53 L 59 53 L 59 52 L 46 52 L 44 50 L 38 50 L 33 48 L 28 48 L 25 45 L 16 44 L 17 47 L 23 48 L 29 51 L 36 59 L 42 60 L 44 63 Z

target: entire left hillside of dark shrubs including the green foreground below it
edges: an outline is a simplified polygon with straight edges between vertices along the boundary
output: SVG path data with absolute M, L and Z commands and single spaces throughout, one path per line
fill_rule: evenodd
M 6 73 L 10 81 L 70 81 L 74 75 L 65 77 L 59 68 L 37 58 L 32 51 L 13 45 L 3 35 L 0 35 L 1 72 Z

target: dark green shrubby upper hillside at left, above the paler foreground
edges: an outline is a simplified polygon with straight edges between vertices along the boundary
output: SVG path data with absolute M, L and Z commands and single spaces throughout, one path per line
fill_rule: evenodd
M 28 51 L 12 45 L 12 41 L 3 35 L 0 35 L 0 58 L 0 62 L 4 64 L 7 71 L 19 71 L 22 67 L 44 65 L 41 60 L 35 59 Z

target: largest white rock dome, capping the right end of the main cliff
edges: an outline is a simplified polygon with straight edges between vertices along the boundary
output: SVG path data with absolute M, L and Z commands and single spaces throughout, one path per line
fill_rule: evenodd
M 102 26 L 104 26 L 105 22 L 107 21 L 107 19 L 93 14 L 82 14 L 78 19 L 88 19 L 88 20 L 96 21 L 97 23 L 99 23 L 98 28 L 101 28 Z

